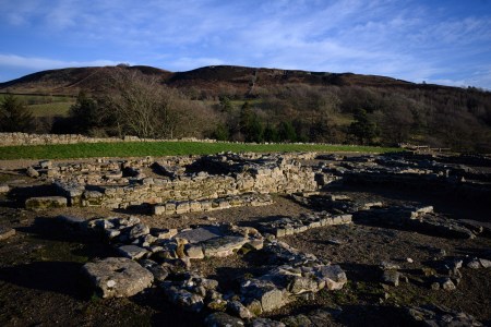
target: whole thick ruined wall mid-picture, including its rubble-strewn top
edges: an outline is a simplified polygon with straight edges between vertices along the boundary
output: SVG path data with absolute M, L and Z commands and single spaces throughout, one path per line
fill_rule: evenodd
M 216 156 L 218 159 L 221 157 Z M 31 167 L 31 170 L 35 172 L 36 178 L 52 181 L 57 193 L 67 197 L 70 206 L 127 208 L 142 204 L 179 202 L 183 208 L 191 208 L 192 204 L 196 208 L 201 207 L 201 210 L 206 210 L 209 205 L 213 208 L 214 199 L 219 198 L 228 197 L 236 203 L 237 196 L 246 194 L 256 194 L 254 198 L 260 198 L 259 194 L 290 194 L 318 190 L 316 171 L 287 158 L 288 156 L 276 155 L 273 158 L 248 159 L 243 156 L 240 160 L 235 158 L 236 161 L 225 160 L 224 162 L 228 164 L 219 174 L 206 171 L 184 172 L 183 165 L 188 166 L 196 158 L 168 158 L 164 165 L 153 161 L 151 157 L 131 161 L 100 160 L 64 166 L 43 162 L 45 168 L 39 165 Z M 266 161 L 267 165 L 260 165 L 259 160 Z M 163 167 L 169 169 L 164 173 Z M 173 168 L 172 171 L 170 168 Z M 153 173 L 153 177 L 146 177 L 145 171 L 148 172 L 148 169 L 159 170 L 160 174 L 157 172 Z M 258 201 L 254 198 L 246 201 L 248 204 L 243 205 L 249 205 L 249 202 L 255 205 Z

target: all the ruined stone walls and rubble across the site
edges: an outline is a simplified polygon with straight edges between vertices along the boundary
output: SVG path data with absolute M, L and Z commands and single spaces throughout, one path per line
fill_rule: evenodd
M 37 210 L 65 206 L 112 209 L 139 206 L 151 215 L 182 215 L 239 206 L 267 206 L 274 202 L 273 194 L 287 194 L 295 202 L 314 208 L 315 213 L 276 217 L 255 227 L 207 225 L 181 230 L 151 229 L 136 217 L 92 220 L 59 217 L 60 221 L 79 231 L 104 234 L 118 250 L 120 257 L 103 258 L 84 266 L 85 275 L 103 298 L 131 296 L 157 286 L 170 302 L 191 312 L 211 313 L 207 318 L 211 326 L 218 324 L 216 319 L 246 319 L 256 322 L 253 326 L 270 326 L 274 322 L 259 317 L 263 312 L 274 311 L 298 296 L 314 294 L 322 289 L 338 290 L 347 282 L 346 274 L 338 265 L 292 249 L 280 241 L 283 237 L 354 222 L 447 238 L 467 239 L 490 233 L 486 223 L 448 219 L 435 213 L 432 206 L 388 206 L 326 192 L 336 183 L 397 185 L 409 190 L 438 190 L 451 198 L 489 201 L 491 175 L 460 162 L 469 160 L 490 167 L 491 159 L 471 156 L 460 159 L 411 153 L 350 157 L 313 153 L 227 153 L 157 160 L 151 157 L 76 164 L 43 160 L 27 168 L 26 174 L 51 185 L 53 194 L 26 198 L 25 207 Z M 0 187 L 7 187 L 5 192 L 9 192 L 7 185 Z M 268 268 L 262 275 L 244 278 L 237 290 L 221 289 L 218 281 L 193 270 L 193 261 L 226 257 L 244 251 L 261 253 Z M 446 275 L 430 276 L 431 287 L 455 289 L 463 263 L 475 268 L 490 266 L 483 258 L 443 263 L 452 268 L 446 269 Z M 404 279 L 396 265 L 385 263 L 381 265 L 381 271 L 386 283 L 397 286 Z M 415 313 L 428 314 L 428 310 L 422 308 L 409 312 L 414 316 L 418 316 Z

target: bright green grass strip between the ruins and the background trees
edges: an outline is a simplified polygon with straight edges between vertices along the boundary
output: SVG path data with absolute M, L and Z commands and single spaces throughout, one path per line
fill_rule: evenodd
M 399 148 L 349 146 L 349 145 L 308 145 L 308 144 L 236 144 L 201 142 L 121 142 L 83 143 L 59 145 L 28 145 L 0 147 L 0 159 L 72 159 L 93 157 L 145 157 L 206 155 L 220 152 L 289 153 L 289 152 L 359 152 L 387 153 Z

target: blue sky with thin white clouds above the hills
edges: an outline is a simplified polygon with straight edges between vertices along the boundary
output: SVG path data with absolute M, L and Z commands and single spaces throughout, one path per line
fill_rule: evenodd
M 491 0 L 0 0 L 0 81 L 237 64 L 491 89 Z

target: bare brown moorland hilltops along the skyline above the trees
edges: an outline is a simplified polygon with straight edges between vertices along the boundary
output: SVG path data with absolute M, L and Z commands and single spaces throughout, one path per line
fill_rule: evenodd
M 420 87 L 419 84 L 376 75 L 352 73 L 308 72 L 233 65 L 209 65 L 187 72 L 169 72 L 161 69 L 128 66 L 147 75 L 157 75 L 164 84 L 179 88 L 200 88 L 217 92 L 235 87 L 250 92 L 254 86 L 272 86 L 302 83 L 308 85 L 338 85 L 363 87 Z M 13 81 L 0 83 L 1 93 L 76 95 L 80 89 L 98 89 L 115 66 L 68 68 L 41 71 Z M 444 86 L 442 86 L 444 87 Z

